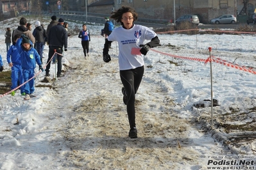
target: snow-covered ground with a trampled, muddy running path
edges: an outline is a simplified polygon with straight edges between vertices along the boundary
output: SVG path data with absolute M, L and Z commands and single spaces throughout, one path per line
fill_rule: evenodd
M 4 70 L 10 70 L 5 28 L 15 29 L 19 19 L 8 23 L 0 24 Z M 81 25 L 69 22 L 69 31 Z M 69 37 L 65 77 L 44 83 L 40 73 L 36 98 L 0 98 L 1 169 L 255 169 L 255 74 L 212 62 L 218 106 L 211 126 L 211 104 L 204 101 L 211 100 L 210 63 L 199 61 L 212 47 L 224 63 L 254 68 L 255 35 L 158 33 L 162 46 L 145 56 L 136 95 L 138 139 L 130 139 L 117 43 L 104 63 L 103 26 L 87 27 L 90 56 L 83 57 L 78 34 Z M 47 52 L 46 46 L 44 64 Z M 54 72 L 51 65 L 51 78 Z

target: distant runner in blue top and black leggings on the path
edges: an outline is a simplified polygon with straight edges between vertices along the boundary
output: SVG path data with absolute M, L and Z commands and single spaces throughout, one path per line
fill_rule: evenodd
M 83 24 L 83 29 L 80 31 L 78 38 L 81 38 L 81 47 L 83 47 L 83 54 L 89 56 L 89 42 L 90 42 L 90 32 L 87 26 Z

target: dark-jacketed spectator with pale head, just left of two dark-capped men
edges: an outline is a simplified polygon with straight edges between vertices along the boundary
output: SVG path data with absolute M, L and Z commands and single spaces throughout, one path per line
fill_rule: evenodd
M 46 32 L 41 26 L 40 21 L 35 22 L 35 29 L 33 31 L 33 36 L 35 36 L 35 49 L 37 50 L 41 62 L 42 62 L 42 48 L 44 45 L 44 40 L 46 39 Z

